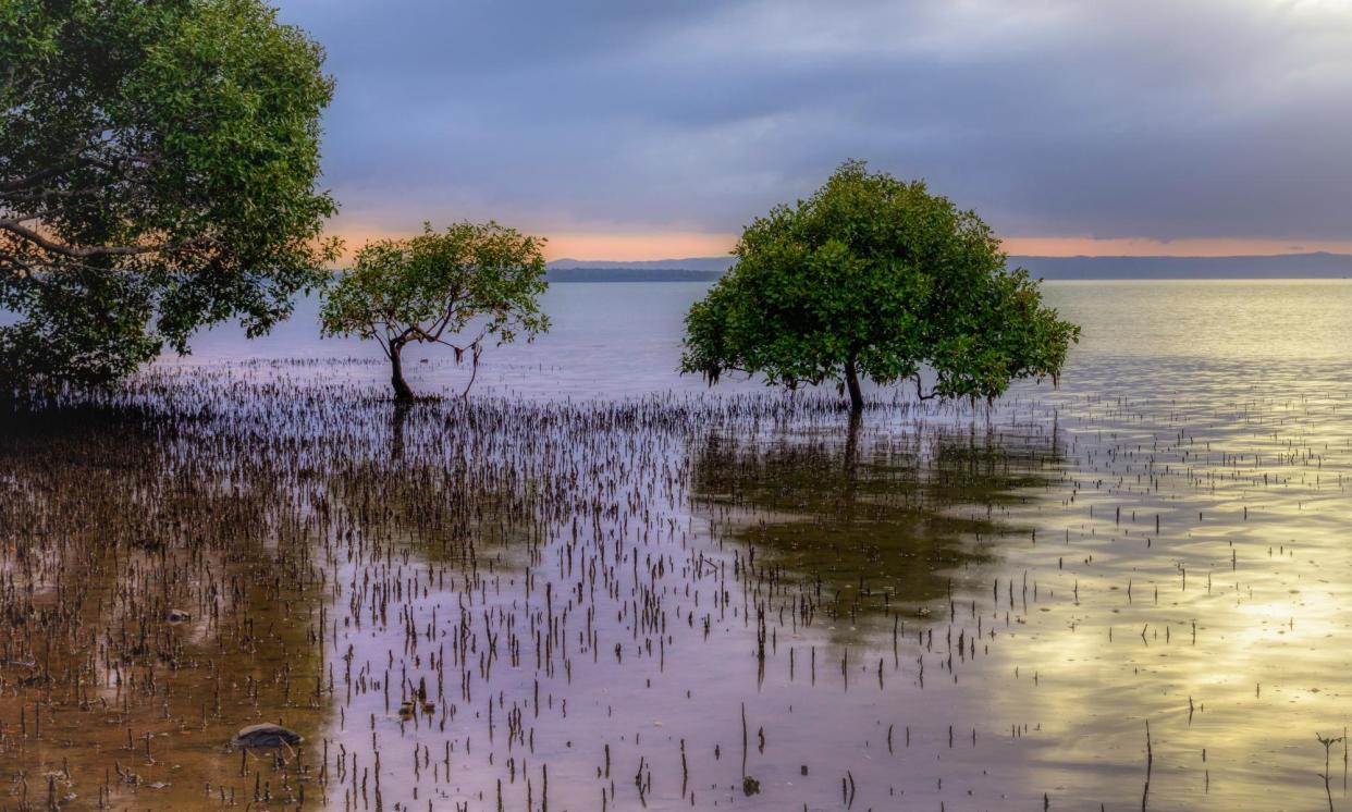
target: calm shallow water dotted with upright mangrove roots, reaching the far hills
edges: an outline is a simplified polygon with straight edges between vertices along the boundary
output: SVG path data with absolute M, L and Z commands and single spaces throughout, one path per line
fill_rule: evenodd
M 468 405 L 307 304 L 16 417 L 8 805 L 1348 804 L 1352 284 L 1046 284 L 1060 389 L 859 426 L 677 377 L 703 289 L 557 285 Z

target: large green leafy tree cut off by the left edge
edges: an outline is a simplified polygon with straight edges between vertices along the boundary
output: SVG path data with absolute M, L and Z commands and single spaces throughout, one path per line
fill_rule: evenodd
M 262 0 L 0 4 L 0 377 L 95 384 L 323 280 L 323 51 Z

